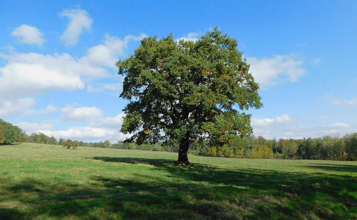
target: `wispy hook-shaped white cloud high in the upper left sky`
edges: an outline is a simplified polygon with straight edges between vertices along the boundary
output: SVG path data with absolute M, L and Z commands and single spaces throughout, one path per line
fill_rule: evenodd
M 91 29 L 93 19 L 89 17 L 86 10 L 82 9 L 64 10 L 60 15 L 61 17 L 68 17 L 70 20 L 67 29 L 61 36 L 61 40 L 66 46 L 74 46 L 78 43 L 79 35 L 83 33 L 84 29 Z

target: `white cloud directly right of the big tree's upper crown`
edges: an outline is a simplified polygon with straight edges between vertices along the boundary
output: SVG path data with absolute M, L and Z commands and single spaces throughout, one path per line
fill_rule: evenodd
M 293 55 L 276 55 L 273 58 L 246 57 L 250 72 L 262 88 L 283 82 L 297 82 L 304 75 L 303 61 Z

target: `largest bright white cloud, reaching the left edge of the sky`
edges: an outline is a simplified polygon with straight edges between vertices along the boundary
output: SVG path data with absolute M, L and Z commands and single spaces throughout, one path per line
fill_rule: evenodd
M 75 64 L 68 54 L 21 53 L 11 56 L 9 64 L 0 68 L 0 97 L 21 97 L 49 89 L 82 89 L 84 82 L 74 74 L 73 70 L 78 68 Z

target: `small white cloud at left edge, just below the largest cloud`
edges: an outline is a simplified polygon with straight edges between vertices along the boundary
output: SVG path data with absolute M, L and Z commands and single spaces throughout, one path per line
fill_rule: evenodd
M 0 118 L 31 114 L 33 111 L 30 109 L 35 104 L 36 101 L 33 97 L 12 100 L 1 99 L 0 97 Z

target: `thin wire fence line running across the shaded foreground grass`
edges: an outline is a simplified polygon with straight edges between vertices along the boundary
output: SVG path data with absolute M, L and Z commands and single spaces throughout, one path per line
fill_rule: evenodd
M 352 173 L 357 173 L 357 172 L 351 172 L 351 171 L 337 171 L 333 173 L 308 173 L 307 175 L 310 176 L 328 176 L 332 174 L 337 174 L 337 173 L 349 173 L 351 177 L 357 177 L 353 176 Z M 306 173 L 301 173 L 301 174 L 306 174 Z M 349 174 L 346 174 L 349 176 Z M 346 175 L 341 175 L 341 176 L 346 176 Z M 277 181 L 280 180 L 280 186 L 282 186 L 282 180 L 296 180 L 296 178 L 288 178 L 287 176 L 272 176 L 268 178 L 258 178 L 258 179 L 251 179 L 251 180 L 244 180 L 244 181 L 238 181 L 235 182 L 234 185 L 237 184 L 243 184 L 243 183 L 250 183 L 250 182 L 255 182 L 255 181 L 263 181 L 263 180 L 268 180 L 268 179 L 275 179 Z M 217 186 L 229 186 L 232 184 L 212 184 L 212 185 L 196 185 L 196 186 L 182 186 L 182 187 L 176 187 L 176 188 L 168 188 L 168 189 L 155 189 L 155 190 L 141 190 L 141 191 L 131 191 L 131 192 L 120 192 L 120 193 L 103 193 L 103 194 L 91 194 L 91 195 L 76 195 L 76 196 L 62 196 L 62 197 L 52 197 L 52 198 L 37 198 L 37 199 L 32 199 L 32 200 L 20 200 L 20 201 L 7 201 L 7 202 L 0 202 L 0 204 L 4 203 L 11 203 L 11 202 L 22 202 L 22 203 L 32 203 L 36 201 L 40 201 L 37 203 L 47 203 L 50 201 L 55 201 L 55 200 L 65 200 L 65 199 L 75 199 L 75 198 L 90 198 L 90 197 L 97 197 L 97 196 L 115 196 L 115 195 L 136 195 L 136 194 L 150 194 L 150 193 L 158 193 L 158 192 L 170 192 L 170 191 L 180 191 L 180 190 L 192 190 L 192 189 L 200 189 L 200 188 L 212 188 L 212 187 L 217 187 Z M 167 185 L 157 185 L 157 186 L 167 186 Z M 140 186 L 137 186 L 140 187 Z M 136 187 L 136 188 L 137 188 Z M 16 198 L 10 197 L 6 199 L 12 199 Z

